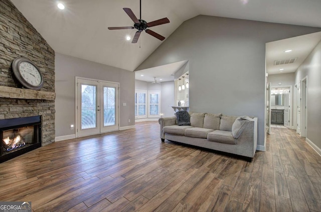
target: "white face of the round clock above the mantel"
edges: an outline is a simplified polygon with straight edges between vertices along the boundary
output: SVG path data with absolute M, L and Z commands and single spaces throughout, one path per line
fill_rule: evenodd
M 19 64 L 19 72 L 21 77 L 26 80 L 27 83 L 33 86 L 39 86 L 41 83 L 41 75 L 38 69 L 28 62 L 21 62 Z

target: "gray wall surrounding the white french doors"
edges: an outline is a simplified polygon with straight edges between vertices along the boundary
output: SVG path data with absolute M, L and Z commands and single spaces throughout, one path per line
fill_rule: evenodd
M 75 134 L 75 77 L 119 82 L 120 127 L 134 125 L 135 74 L 131 71 L 56 53 L 56 137 Z M 126 103 L 127 106 L 122 106 Z M 128 119 L 130 122 L 128 123 Z

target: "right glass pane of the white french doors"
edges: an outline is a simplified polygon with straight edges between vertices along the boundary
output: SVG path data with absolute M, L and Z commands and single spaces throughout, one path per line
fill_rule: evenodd
M 116 88 L 104 87 L 104 126 L 115 125 Z

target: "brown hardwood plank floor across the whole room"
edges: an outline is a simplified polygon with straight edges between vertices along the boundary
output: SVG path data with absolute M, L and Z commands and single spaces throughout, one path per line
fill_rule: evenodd
M 0 200 L 33 211 L 321 211 L 321 157 L 272 128 L 252 162 L 159 138 L 157 122 L 0 164 Z

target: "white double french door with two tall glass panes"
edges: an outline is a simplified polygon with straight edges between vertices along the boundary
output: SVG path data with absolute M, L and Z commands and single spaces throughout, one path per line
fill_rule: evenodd
M 80 78 L 76 83 L 76 137 L 118 130 L 119 84 Z

